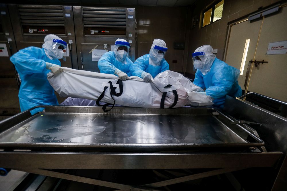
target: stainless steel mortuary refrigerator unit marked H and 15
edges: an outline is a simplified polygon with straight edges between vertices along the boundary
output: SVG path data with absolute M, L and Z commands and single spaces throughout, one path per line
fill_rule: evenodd
M 131 11 L 131 9 L 133 11 Z M 130 11 L 129 11 L 130 10 Z M 130 41 L 130 59 L 134 62 L 137 58 L 136 19 L 134 8 L 110 7 L 81 7 L 73 6 L 75 22 L 75 35 L 77 41 L 78 68 L 100 72 L 98 61 L 92 61 L 92 50 L 111 50 L 117 38 Z M 129 16 L 132 18 L 129 18 Z M 109 30 L 105 34 L 90 34 L 90 30 Z M 113 34 L 112 31 L 125 31 Z M 107 48 L 104 47 L 107 44 Z

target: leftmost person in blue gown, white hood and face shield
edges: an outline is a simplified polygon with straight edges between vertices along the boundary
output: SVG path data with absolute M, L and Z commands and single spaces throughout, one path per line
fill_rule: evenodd
M 67 43 L 56 35 L 44 38 L 42 48 L 30 46 L 10 57 L 21 78 L 19 102 L 21 111 L 37 105 L 58 105 L 54 89 L 47 80 L 47 73 L 61 73 L 61 62 L 65 60 Z M 31 114 L 42 111 L 37 108 Z

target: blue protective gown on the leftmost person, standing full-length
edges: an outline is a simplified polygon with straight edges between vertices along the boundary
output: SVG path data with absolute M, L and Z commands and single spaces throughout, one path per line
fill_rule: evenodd
M 59 105 L 54 89 L 47 80 L 46 63 L 57 64 L 61 62 L 49 59 L 43 48 L 30 46 L 24 48 L 10 57 L 21 78 L 19 90 L 19 102 L 21 111 L 26 111 L 37 105 Z M 42 111 L 43 108 L 37 108 L 31 111 L 35 114 Z

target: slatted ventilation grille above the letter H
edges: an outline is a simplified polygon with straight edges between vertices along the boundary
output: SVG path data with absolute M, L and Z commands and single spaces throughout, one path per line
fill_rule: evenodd
M 125 28 L 126 9 L 82 7 L 84 27 Z

